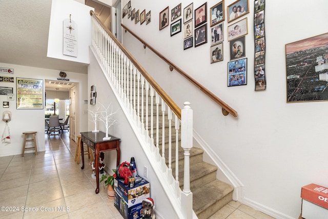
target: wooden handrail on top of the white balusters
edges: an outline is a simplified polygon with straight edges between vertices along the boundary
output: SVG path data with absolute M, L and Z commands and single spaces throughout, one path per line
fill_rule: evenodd
M 92 10 L 90 11 L 91 16 L 94 16 L 101 27 L 109 34 L 117 46 L 124 52 L 124 54 L 130 59 L 133 65 L 139 70 L 139 72 L 145 77 L 148 83 L 154 88 L 154 90 L 160 95 L 160 97 L 165 101 L 165 103 L 172 109 L 172 111 L 181 120 L 181 109 L 174 103 L 171 97 L 155 82 L 155 80 L 148 74 L 148 72 L 136 61 L 136 59 L 131 55 L 131 53 L 118 41 L 114 34 L 103 24 Z

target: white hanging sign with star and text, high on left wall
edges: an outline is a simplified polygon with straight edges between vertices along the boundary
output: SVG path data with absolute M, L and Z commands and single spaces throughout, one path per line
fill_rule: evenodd
M 77 57 L 77 25 L 71 19 L 64 20 L 63 25 L 63 54 Z

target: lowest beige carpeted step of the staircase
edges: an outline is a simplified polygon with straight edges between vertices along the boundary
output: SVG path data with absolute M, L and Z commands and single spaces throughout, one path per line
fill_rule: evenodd
M 199 219 L 206 219 L 232 201 L 233 186 L 219 180 L 203 184 L 193 191 L 193 209 Z

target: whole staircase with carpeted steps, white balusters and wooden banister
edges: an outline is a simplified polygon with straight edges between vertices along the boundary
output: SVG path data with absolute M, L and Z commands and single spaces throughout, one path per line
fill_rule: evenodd
M 217 180 L 217 167 L 203 162 L 203 151 L 192 147 L 190 103 L 180 109 L 96 19 L 92 51 L 176 215 L 209 218 L 232 200 L 233 187 Z

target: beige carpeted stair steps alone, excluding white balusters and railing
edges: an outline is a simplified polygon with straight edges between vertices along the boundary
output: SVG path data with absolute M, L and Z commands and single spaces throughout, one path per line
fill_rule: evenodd
M 141 98 L 141 97 L 140 97 Z M 144 96 L 146 98 L 146 96 Z M 150 108 L 150 107 L 149 107 Z M 156 106 L 153 106 L 155 109 Z M 155 111 L 154 111 L 155 113 Z M 148 113 L 150 115 L 150 112 Z M 146 116 L 146 112 L 144 113 Z M 156 115 L 154 115 L 156 117 Z M 161 116 L 159 116 L 161 117 Z M 149 127 L 150 127 L 151 116 L 149 116 Z M 161 124 L 162 121 L 160 120 Z M 174 123 L 172 123 L 172 128 L 174 128 Z M 166 128 L 169 123 L 165 123 Z M 167 129 L 166 129 L 167 130 Z M 161 132 L 161 130 L 160 130 Z M 150 130 L 149 130 L 150 133 Z M 156 130 L 154 130 L 154 134 Z M 161 136 L 161 134 L 159 135 Z M 176 136 L 172 134 L 172 140 L 175 141 Z M 165 160 L 166 164 L 169 166 L 169 144 L 168 135 L 165 135 Z M 162 142 L 161 137 L 159 142 Z M 159 146 L 161 151 L 161 145 Z M 175 152 L 175 145 L 172 145 L 172 154 Z M 179 176 L 183 176 L 183 149 L 179 147 Z M 172 155 L 172 172 L 175 177 L 175 155 Z M 232 201 L 232 192 L 234 190 L 233 186 L 219 181 L 216 179 L 217 167 L 206 162 L 203 162 L 203 150 L 200 148 L 193 147 L 190 151 L 190 189 L 193 193 L 193 210 L 199 219 L 209 218 L 224 205 L 227 205 Z M 181 190 L 183 189 L 183 177 L 179 177 L 179 184 Z

